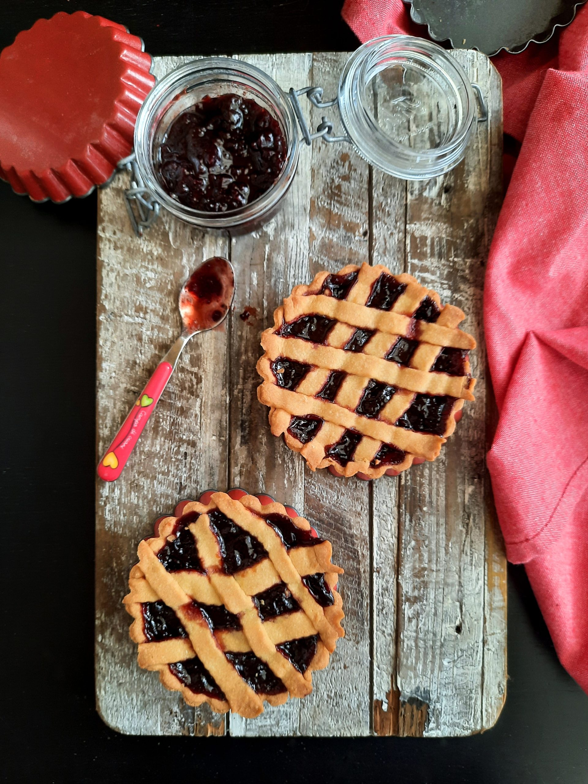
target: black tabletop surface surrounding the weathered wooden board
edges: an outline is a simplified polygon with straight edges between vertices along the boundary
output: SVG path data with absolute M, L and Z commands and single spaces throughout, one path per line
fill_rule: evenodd
M 0 5 L 0 49 L 83 8 L 154 55 L 350 50 L 340 0 Z M 8 782 L 586 784 L 588 698 L 557 662 L 521 567 L 509 572 L 509 673 L 495 728 L 466 739 L 131 738 L 93 695 L 96 194 L 34 205 L 0 183 L 2 713 Z M 66 510 L 69 514 L 64 514 Z

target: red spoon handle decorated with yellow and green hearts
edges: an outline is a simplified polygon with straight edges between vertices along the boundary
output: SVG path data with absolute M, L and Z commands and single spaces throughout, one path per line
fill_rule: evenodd
M 172 375 L 173 367 L 168 361 L 163 360 L 159 363 L 151 379 L 147 382 L 147 387 L 139 395 L 135 405 L 129 411 L 129 416 L 118 433 L 114 437 L 111 445 L 107 448 L 105 455 L 100 460 L 98 466 L 98 476 L 107 482 L 114 481 L 120 476 L 122 469 L 132 449 L 139 441 L 143 427 L 147 424 L 147 419 L 151 416 L 153 409 L 162 397 L 165 385 Z

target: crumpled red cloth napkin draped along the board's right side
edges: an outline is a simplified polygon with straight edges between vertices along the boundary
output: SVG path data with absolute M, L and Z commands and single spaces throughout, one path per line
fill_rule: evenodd
M 362 41 L 425 29 L 401 0 L 347 0 L 343 18 Z M 493 62 L 522 147 L 485 281 L 500 412 L 488 468 L 506 554 L 588 692 L 588 5 L 551 42 Z

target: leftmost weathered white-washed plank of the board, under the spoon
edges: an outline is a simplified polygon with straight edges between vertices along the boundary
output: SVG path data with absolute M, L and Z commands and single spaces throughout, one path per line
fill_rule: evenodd
M 158 58 L 155 74 L 191 59 Z M 127 185 L 128 176 L 119 174 L 98 194 L 100 455 L 180 333 L 183 281 L 208 256 L 227 254 L 226 239 L 193 230 L 165 210 L 148 239 L 137 240 L 123 201 Z M 201 489 L 226 484 L 226 343 L 226 332 L 193 339 L 122 476 L 96 484 L 96 701 L 107 724 L 133 735 L 224 731 L 223 717 L 186 706 L 156 673 L 140 670 L 121 601 L 137 543 L 155 517 Z

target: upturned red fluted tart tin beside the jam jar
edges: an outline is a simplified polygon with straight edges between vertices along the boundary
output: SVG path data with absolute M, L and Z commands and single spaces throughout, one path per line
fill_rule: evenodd
M 102 16 L 56 13 L 0 53 L 0 177 L 34 201 L 85 196 L 132 151 L 151 56 Z

